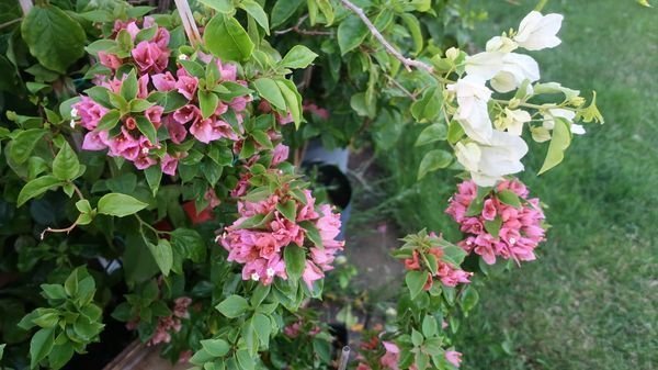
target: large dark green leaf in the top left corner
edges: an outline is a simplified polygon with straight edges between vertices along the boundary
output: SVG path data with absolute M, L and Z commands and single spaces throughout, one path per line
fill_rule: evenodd
M 84 55 L 84 30 L 66 12 L 54 5 L 36 5 L 21 23 L 30 54 L 44 67 L 65 74 Z

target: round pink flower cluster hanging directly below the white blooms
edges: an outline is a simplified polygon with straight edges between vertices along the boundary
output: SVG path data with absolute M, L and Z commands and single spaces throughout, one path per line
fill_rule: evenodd
M 494 191 L 480 191 L 473 181 L 457 186 L 446 213 L 466 234 L 460 242 L 468 253 L 492 265 L 496 257 L 517 262 L 534 260 L 534 249 L 544 240 L 544 212 L 537 198 L 529 198 L 519 180 L 501 181 Z

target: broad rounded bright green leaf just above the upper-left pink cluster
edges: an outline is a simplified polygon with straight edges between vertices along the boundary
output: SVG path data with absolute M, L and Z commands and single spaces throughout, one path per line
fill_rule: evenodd
M 225 14 L 217 14 L 211 20 L 203 40 L 208 51 L 222 60 L 247 60 L 253 52 L 253 43 L 240 22 Z

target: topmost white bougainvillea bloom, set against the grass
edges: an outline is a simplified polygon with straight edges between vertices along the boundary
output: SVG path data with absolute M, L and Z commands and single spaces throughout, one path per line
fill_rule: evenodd
M 519 46 L 529 51 L 541 51 L 555 47 L 561 43 L 556 36 L 564 16 L 532 11 L 521 21 L 514 41 Z

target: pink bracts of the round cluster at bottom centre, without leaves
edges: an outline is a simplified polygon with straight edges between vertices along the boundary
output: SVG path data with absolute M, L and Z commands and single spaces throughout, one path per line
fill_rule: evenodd
M 242 279 L 271 284 L 274 277 L 287 279 L 284 249 L 296 245 L 305 248 L 306 267 L 303 280 L 313 288 L 313 282 L 325 277 L 325 271 L 331 270 L 336 254 L 343 248 L 344 242 L 337 240 L 340 233 L 340 214 L 333 213 L 327 204 L 315 209 L 315 199 L 310 191 L 304 190 L 305 202 L 287 195 L 273 194 L 259 202 L 238 202 L 238 218 L 218 242 L 228 250 L 228 260 L 245 265 Z M 279 203 L 296 202 L 296 218 L 291 221 L 276 210 Z M 240 225 L 249 217 L 263 215 L 265 220 L 259 228 L 241 228 Z M 305 245 L 306 231 L 302 222 L 310 222 L 317 228 L 322 246 Z

